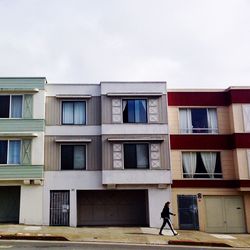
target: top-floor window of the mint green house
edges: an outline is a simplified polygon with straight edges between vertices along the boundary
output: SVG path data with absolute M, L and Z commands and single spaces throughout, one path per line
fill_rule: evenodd
M 22 95 L 0 95 L 0 118 L 21 118 Z

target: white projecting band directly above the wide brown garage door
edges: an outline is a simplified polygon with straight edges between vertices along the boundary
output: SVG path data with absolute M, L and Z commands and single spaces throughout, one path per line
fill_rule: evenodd
M 169 170 L 103 170 L 102 184 L 170 184 Z

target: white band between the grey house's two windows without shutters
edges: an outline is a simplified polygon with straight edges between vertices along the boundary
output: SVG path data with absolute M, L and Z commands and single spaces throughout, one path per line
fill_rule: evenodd
M 101 135 L 101 126 L 88 125 L 61 125 L 61 126 L 46 126 L 45 135 L 67 135 L 67 136 L 86 136 L 86 135 Z

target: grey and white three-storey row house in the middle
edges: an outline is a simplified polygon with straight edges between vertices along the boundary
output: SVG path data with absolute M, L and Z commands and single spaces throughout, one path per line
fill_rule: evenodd
M 166 107 L 165 82 L 47 84 L 44 224 L 159 227 Z

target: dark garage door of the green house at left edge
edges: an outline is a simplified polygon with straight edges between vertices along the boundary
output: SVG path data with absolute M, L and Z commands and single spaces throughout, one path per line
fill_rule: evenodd
M 19 223 L 20 187 L 0 187 L 0 223 Z

